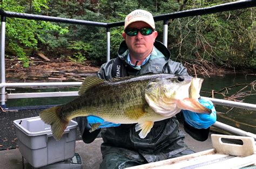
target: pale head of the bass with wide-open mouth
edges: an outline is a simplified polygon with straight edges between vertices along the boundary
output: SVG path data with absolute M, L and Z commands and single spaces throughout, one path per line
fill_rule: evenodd
M 191 76 L 161 76 L 149 83 L 145 99 L 154 112 L 172 117 L 180 110 L 210 113 L 198 102 L 203 79 Z

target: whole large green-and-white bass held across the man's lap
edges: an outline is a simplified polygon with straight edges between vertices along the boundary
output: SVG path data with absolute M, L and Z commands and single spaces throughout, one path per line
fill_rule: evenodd
M 170 118 L 183 110 L 211 113 L 198 102 L 203 79 L 171 74 L 152 74 L 105 81 L 87 77 L 75 100 L 45 109 L 39 116 L 51 125 L 59 140 L 72 118 L 98 116 L 104 121 L 136 124 L 140 138 L 145 138 L 154 122 Z M 92 130 L 100 124 L 93 124 Z

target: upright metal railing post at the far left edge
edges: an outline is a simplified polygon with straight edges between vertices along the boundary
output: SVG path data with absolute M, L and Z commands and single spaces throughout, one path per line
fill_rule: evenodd
M 0 83 L 5 83 L 5 58 L 4 58 L 4 53 L 5 53 L 5 22 L 6 22 L 6 17 L 1 16 L 1 79 Z M 1 87 L 1 107 L 6 108 L 5 105 L 5 86 Z

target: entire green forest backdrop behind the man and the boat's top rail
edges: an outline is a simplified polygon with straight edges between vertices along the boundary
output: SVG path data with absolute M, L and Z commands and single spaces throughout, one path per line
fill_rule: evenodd
M 113 23 L 123 21 L 127 13 L 145 9 L 152 14 L 204 8 L 230 1 L 151 0 L 151 1 L 71 1 L 5 0 L 6 11 L 36 13 L 62 18 Z M 8 5 L 7 5 L 8 4 Z M 256 68 L 255 8 L 218 12 L 169 20 L 168 48 L 177 61 L 206 60 L 228 68 Z M 158 40 L 163 39 L 163 22 L 156 22 Z M 111 28 L 111 58 L 117 56 L 123 26 Z M 26 49 L 41 50 L 48 57 L 65 56 L 74 61 L 85 59 L 100 65 L 106 61 L 106 29 L 75 24 L 39 22 L 8 18 L 6 44 L 28 62 Z M 28 65 L 25 65 L 28 66 Z

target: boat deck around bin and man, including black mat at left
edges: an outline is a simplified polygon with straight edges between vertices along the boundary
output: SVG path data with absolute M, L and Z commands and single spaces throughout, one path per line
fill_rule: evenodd
M 2 159 L 1 167 L 4 168 L 32 168 L 23 158 L 18 150 L 18 142 L 15 135 L 15 126 L 12 122 L 16 119 L 28 118 L 38 116 L 38 112 L 42 107 L 33 109 L 10 109 L 11 111 L 0 113 L 0 159 Z M 183 130 L 183 127 L 180 127 Z M 185 133 L 185 131 L 184 131 Z M 199 152 L 212 149 L 211 138 L 209 137 L 205 142 L 198 142 L 185 133 L 185 141 L 192 150 Z M 81 140 L 80 133 L 77 134 L 76 150 L 75 152 L 80 155 L 83 161 L 83 168 L 99 168 L 102 161 L 102 154 L 100 153 L 100 144 L 102 138 L 97 138 L 91 144 L 85 144 Z

